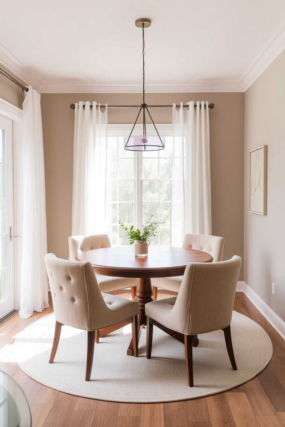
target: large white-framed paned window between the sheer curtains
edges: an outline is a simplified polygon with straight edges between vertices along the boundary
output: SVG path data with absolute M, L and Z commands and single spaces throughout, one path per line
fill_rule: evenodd
M 107 217 L 108 232 L 113 246 L 128 245 L 129 241 L 118 225 L 141 228 L 151 215 L 165 221 L 159 226 L 158 237 L 151 243 L 170 246 L 170 199 L 172 179 L 173 137 L 171 125 L 159 126 L 165 136 L 165 149 L 133 152 L 123 149 L 123 136 L 129 126 L 108 126 L 107 141 Z

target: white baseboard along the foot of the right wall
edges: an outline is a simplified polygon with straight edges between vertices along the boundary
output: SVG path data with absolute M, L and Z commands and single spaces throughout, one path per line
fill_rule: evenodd
M 285 339 L 285 322 L 254 292 L 245 282 L 238 282 L 237 292 L 244 292 L 247 298 L 256 306 L 267 322 Z

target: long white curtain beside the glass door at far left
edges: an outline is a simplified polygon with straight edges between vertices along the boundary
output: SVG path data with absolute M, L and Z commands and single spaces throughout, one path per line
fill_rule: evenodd
M 48 307 L 47 224 L 40 94 L 28 86 L 23 102 L 23 260 L 21 317 Z

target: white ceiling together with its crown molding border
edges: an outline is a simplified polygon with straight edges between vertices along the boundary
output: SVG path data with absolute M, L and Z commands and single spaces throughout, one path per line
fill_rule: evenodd
M 39 92 L 245 91 L 285 48 L 284 0 L 0 0 L 0 63 Z

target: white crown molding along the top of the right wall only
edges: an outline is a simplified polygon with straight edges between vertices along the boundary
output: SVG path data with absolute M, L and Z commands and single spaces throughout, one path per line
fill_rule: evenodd
M 259 55 L 240 78 L 244 92 L 261 76 L 267 67 L 285 49 L 285 20 L 265 44 Z

